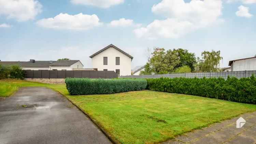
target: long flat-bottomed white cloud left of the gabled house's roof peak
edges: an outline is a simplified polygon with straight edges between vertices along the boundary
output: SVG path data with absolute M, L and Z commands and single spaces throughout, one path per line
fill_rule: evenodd
M 60 13 L 53 18 L 44 18 L 37 21 L 41 27 L 52 29 L 69 29 L 69 30 L 88 30 L 97 27 L 102 23 L 99 22 L 97 15 L 77 14 L 69 15 Z

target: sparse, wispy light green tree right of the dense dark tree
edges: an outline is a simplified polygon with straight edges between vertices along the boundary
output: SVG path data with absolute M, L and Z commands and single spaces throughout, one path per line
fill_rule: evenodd
M 218 71 L 218 64 L 221 57 L 221 51 L 204 51 L 202 52 L 202 59 L 197 58 L 197 70 L 202 72 L 216 72 Z

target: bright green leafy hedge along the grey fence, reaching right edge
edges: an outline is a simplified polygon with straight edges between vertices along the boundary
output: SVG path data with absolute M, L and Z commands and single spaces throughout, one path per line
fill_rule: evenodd
M 256 78 L 151 78 L 147 88 L 155 91 L 256 104 Z

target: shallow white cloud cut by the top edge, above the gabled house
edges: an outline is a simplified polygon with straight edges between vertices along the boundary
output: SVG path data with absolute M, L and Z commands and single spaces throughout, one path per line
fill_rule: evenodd
M 109 8 L 112 5 L 123 3 L 124 0 L 71 0 L 73 4 L 93 5 L 100 8 Z

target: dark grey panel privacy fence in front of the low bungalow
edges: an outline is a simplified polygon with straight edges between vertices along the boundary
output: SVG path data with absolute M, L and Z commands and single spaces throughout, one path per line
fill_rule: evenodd
M 114 71 L 25 70 L 25 78 L 116 78 Z

